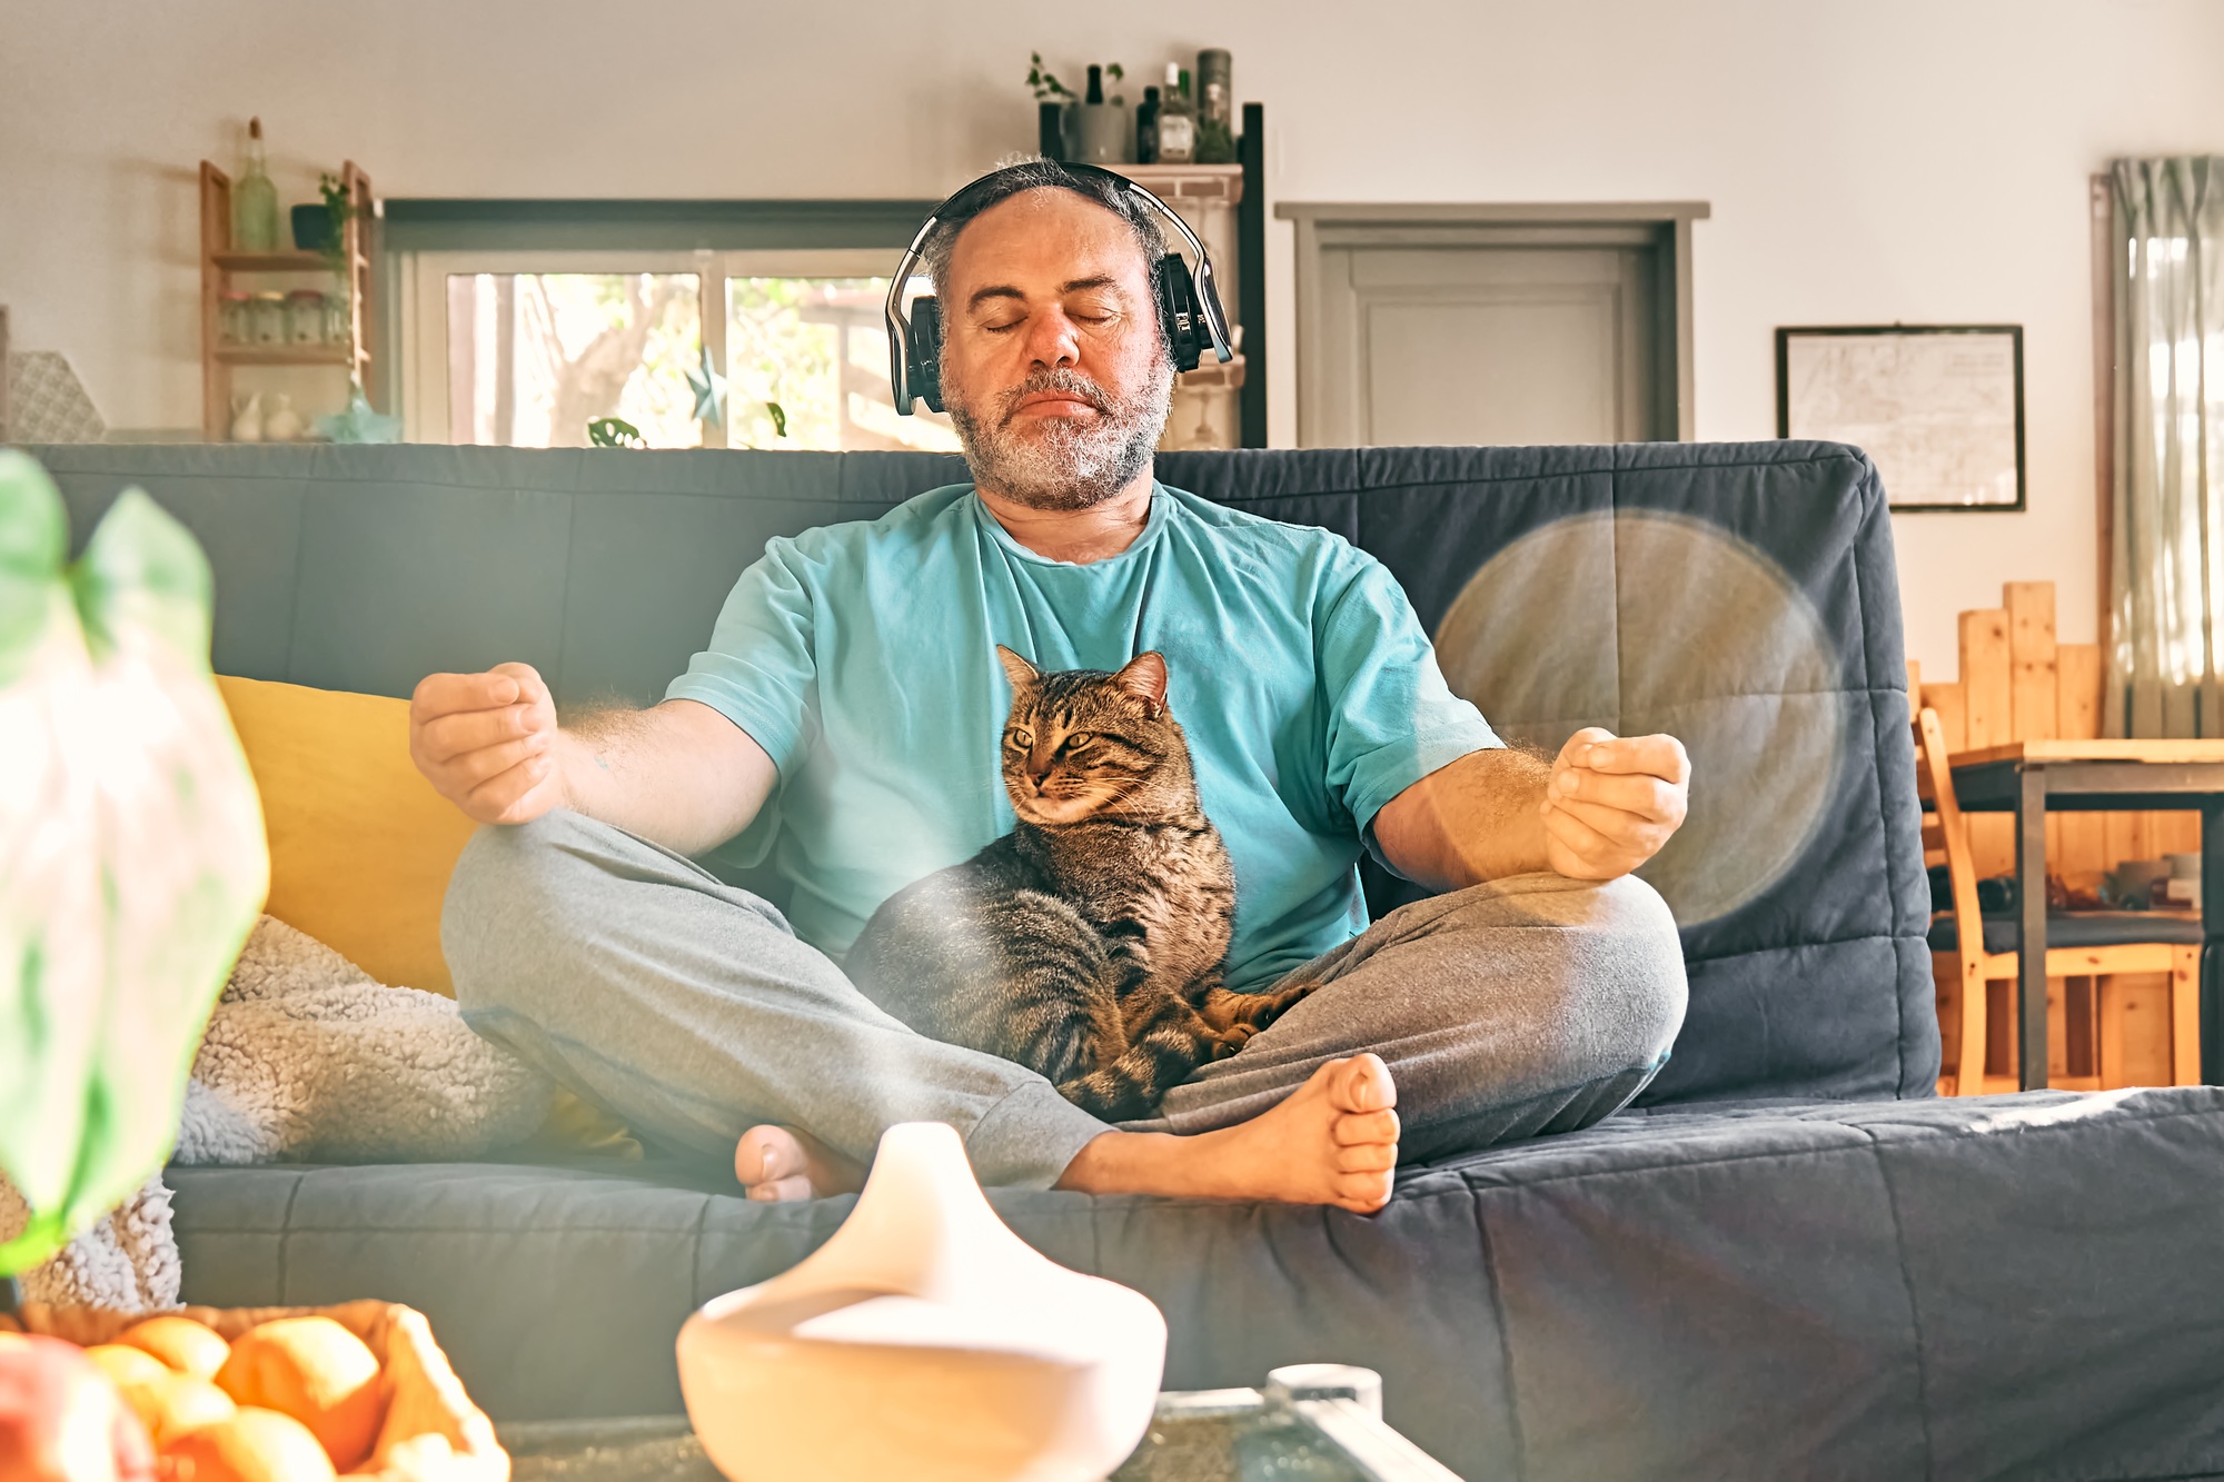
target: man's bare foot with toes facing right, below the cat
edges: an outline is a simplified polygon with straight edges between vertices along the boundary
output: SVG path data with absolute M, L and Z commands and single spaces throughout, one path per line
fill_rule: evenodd
M 1194 1137 L 1105 1133 L 1059 1188 L 1337 1204 L 1370 1215 L 1397 1170 L 1397 1086 L 1377 1055 L 1332 1059 L 1239 1126 Z

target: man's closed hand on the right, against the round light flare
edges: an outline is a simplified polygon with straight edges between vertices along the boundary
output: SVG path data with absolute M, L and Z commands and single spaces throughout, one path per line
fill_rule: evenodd
M 1570 879 L 1615 879 L 1659 854 L 1690 808 L 1690 757 L 1675 737 L 1568 737 L 1543 786 L 1548 863 Z

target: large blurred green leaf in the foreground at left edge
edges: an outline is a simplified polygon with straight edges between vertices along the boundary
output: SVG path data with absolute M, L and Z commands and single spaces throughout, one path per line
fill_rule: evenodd
M 138 1188 L 269 890 L 262 810 L 209 674 L 209 563 L 127 490 L 69 516 L 0 449 L 0 1277 Z

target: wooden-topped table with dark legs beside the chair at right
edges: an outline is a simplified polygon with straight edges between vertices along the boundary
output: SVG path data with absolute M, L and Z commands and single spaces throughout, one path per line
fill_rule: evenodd
M 2202 1079 L 2224 1081 L 2224 741 L 2010 741 L 1955 752 L 1948 765 L 1964 812 L 2015 814 L 2015 1035 L 2026 1090 L 2046 1086 L 2046 810 L 2200 810 Z

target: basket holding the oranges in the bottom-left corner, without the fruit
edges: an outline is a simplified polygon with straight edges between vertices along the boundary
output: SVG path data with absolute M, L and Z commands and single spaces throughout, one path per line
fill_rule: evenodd
M 507 1482 L 509 1455 L 494 1440 L 494 1422 L 471 1404 L 463 1382 L 416 1308 L 398 1302 L 340 1302 L 338 1306 L 187 1306 L 189 1317 L 227 1342 L 280 1317 L 331 1317 L 363 1340 L 378 1360 L 385 1417 L 369 1460 L 345 1478 L 363 1482 Z M 113 1342 L 147 1313 L 27 1302 L 0 1331 L 47 1333 L 78 1346 Z

